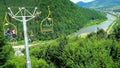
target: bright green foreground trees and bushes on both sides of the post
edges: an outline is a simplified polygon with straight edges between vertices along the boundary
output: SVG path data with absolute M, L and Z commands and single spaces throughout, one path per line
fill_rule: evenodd
M 106 38 L 105 38 L 106 37 Z M 100 29 L 87 38 L 62 36 L 30 48 L 33 68 L 119 68 L 120 42 Z M 21 59 L 21 60 L 19 60 Z M 5 67 L 25 68 L 25 57 L 9 58 Z

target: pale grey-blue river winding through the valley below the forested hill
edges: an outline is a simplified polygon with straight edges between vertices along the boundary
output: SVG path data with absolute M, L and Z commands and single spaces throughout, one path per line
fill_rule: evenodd
M 80 30 L 78 30 L 77 32 L 75 32 L 69 36 L 79 36 L 82 34 L 89 34 L 91 32 L 96 32 L 98 28 L 106 30 L 110 26 L 110 24 L 112 24 L 116 20 L 116 17 L 111 14 L 107 14 L 106 16 L 107 16 L 106 21 L 101 22 L 100 24 L 81 28 Z

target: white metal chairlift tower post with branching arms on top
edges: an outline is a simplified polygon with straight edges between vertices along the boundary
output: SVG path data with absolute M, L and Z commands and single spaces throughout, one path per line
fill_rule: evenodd
M 27 26 L 26 22 L 36 17 L 36 10 L 37 7 L 34 8 L 34 11 L 31 13 L 28 11 L 25 7 L 18 8 L 18 12 L 13 13 L 10 7 L 8 7 L 8 10 L 10 11 L 8 14 L 14 18 L 15 20 L 18 20 L 20 22 L 23 22 L 23 30 L 24 30 L 24 41 L 25 41 L 25 51 L 26 51 L 26 66 L 27 68 L 31 68 L 31 61 L 29 56 L 29 46 L 28 46 L 28 37 L 27 37 Z

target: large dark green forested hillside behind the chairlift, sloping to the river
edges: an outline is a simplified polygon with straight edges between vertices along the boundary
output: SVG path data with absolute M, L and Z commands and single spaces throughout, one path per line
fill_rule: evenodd
M 34 34 L 37 39 L 54 39 L 60 37 L 62 34 L 70 34 L 76 30 L 86 26 L 91 21 L 103 21 L 105 20 L 105 14 L 78 7 L 69 0 L 1 0 L 0 1 L 0 24 L 4 21 L 5 12 L 7 7 L 38 7 L 38 11 L 42 11 L 42 14 L 37 20 L 31 20 L 27 23 L 28 35 Z M 54 23 L 53 33 L 41 33 L 40 23 L 47 16 L 47 6 L 50 6 L 51 16 Z M 14 10 L 14 8 L 13 8 Z M 23 39 L 22 23 L 11 20 L 18 29 L 18 39 Z M 34 22 L 34 23 L 33 23 Z

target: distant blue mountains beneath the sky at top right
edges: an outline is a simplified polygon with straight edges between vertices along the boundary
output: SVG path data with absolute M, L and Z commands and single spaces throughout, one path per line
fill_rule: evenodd
M 120 0 L 95 0 L 88 3 L 78 2 L 77 5 L 90 8 L 113 8 L 120 6 Z

